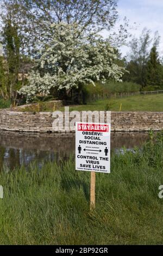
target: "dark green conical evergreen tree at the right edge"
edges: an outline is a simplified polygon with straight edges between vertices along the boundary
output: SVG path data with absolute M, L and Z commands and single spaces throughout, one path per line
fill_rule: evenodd
M 156 46 L 153 46 L 147 62 L 146 84 L 160 88 L 162 85 L 162 66 L 159 61 L 159 55 Z

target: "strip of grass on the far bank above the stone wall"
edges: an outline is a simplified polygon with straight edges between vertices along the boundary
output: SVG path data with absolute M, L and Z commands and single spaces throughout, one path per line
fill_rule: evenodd
M 146 96 L 130 96 L 126 98 L 111 98 L 97 100 L 87 105 L 70 105 L 70 111 L 94 111 L 94 110 L 111 110 L 119 111 L 120 104 L 122 103 L 122 111 L 163 111 L 163 94 L 153 94 Z M 109 108 L 106 108 L 106 105 Z M 33 104 L 24 108 L 17 109 L 18 111 L 54 111 L 53 102 L 41 102 L 39 104 Z M 55 110 L 64 111 L 64 107 L 55 106 Z

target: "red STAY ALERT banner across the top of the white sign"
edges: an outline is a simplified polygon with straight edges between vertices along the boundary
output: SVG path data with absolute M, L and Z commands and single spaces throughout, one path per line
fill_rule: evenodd
M 78 123 L 78 130 L 85 132 L 109 132 L 108 124 L 97 124 L 97 123 Z

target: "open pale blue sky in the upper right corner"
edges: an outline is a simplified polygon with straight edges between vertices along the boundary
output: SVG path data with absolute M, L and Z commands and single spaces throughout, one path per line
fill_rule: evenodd
M 118 0 L 119 21 L 122 23 L 123 17 L 126 16 L 130 25 L 134 25 L 130 32 L 139 37 L 144 27 L 152 31 L 159 32 L 161 36 L 159 52 L 163 55 L 163 0 Z M 104 32 L 104 36 L 107 32 Z M 126 55 L 128 47 L 122 46 L 121 52 Z

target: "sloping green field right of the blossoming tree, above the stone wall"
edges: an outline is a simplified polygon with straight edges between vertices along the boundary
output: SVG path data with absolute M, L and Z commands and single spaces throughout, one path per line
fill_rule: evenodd
M 108 110 L 119 111 L 122 103 L 122 111 L 163 111 L 163 94 L 153 94 L 146 96 L 130 96 L 126 98 L 112 98 L 106 100 L 97 100 L 87 105 L 73 105 L 70 106 L 72 110 L 105 110 L 108 103 L 110 108 Z M 64 108 L 62 108 L 64 110 Z

